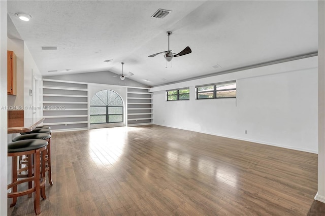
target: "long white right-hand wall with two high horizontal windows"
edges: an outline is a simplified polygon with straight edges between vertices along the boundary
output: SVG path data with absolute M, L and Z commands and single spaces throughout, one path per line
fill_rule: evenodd
M 195 86 L 237 80 L 237 98 L 195 99 Z M 166 90 L 190 88 L 190 100 Z M 317 56 L 154 87 L 154 124 L 317 153 Z M 247 130 L 247 134 L 245 134 Z

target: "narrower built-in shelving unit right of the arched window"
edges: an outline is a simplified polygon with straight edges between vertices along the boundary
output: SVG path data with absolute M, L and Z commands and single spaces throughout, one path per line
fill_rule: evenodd
M 127 125 L 153 124 L 152 93 L 149 88 L 127 87 Z

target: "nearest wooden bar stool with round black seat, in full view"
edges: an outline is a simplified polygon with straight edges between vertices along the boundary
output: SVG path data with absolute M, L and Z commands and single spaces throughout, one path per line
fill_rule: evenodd
M 34 210 L 36 214 L 41 213 L 40 196 L 43 199 L 46 199 L 46 178 L 41 177 L 41 172 L 45 173 L 45 152 L 47 145 L 48 142 L 42 139 L 27 139 L 8 143 L 8 157 L 12 157 L 12 183 L 8 185 L 8 190 L 12 189 L 12 191 L 8 193 L 8 198 L 13 199 L 10 207 L 16 205 L 17 197 L 35 192 Z M 30 155 L 30 158 L 33 157 L 34 175 L 32 175 L 30 171 L 28 177 L 18 179 L 17 157 L 22 155 Z M 40 169 L 42 170 L 41 172 Z M 18 192 L 18 185 L 26 182 L 34 182 L 34 187 L 31 187 L 31 184 L 28 184 L 27 190 Z

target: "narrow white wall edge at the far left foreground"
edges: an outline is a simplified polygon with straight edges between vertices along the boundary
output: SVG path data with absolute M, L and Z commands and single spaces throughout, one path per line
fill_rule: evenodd
M 7 106 L 7 1 L 0 1 L 0 106 Z M 7 215 L 7 110 L 0 109 L 0 215 Z

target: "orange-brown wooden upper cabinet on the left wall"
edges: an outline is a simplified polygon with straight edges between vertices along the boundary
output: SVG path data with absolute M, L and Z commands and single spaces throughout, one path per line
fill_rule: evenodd
M 16 82 L 16 55 L 13 51 L 7 51 L 7 93 L 8 95 L 16 95 L 17 82 Z

